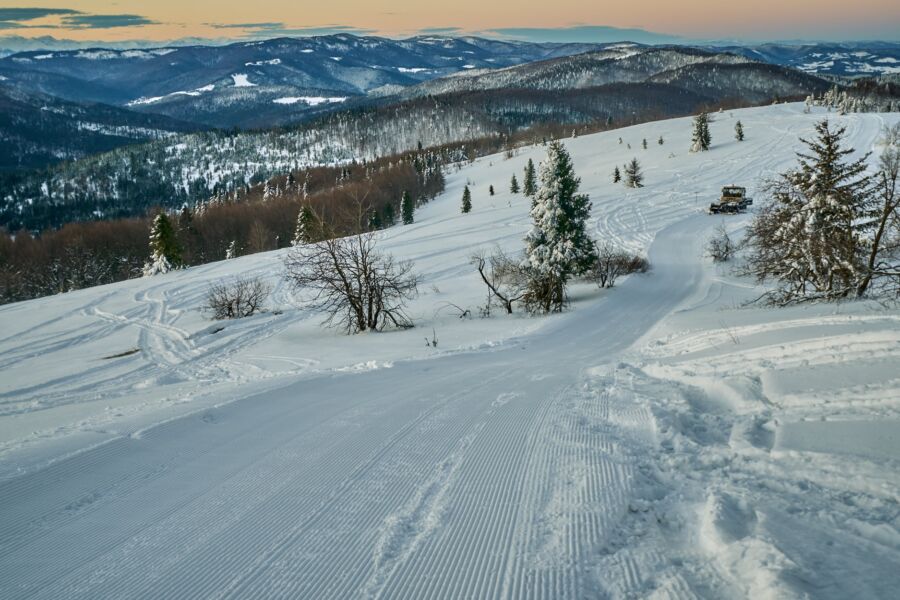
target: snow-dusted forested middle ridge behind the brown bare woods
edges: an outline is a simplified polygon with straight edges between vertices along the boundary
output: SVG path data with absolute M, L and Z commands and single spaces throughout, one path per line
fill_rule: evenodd
M 98 211 L 107 217 L 141 214 L 160 203 L 177 207 L 211 196 L 233 198 L 305 166 L 349 164 L 419 145 L 486 139 L 502 144 L 525 132 L 540 139 L 545 133 L 630 125 L 717 106 L 802 99 L 832 86 L 735 54 L 635 44 L 467 71 L 377 97 L 332 102 L 341 110 L 291 127 L 162 138 L 23 175 L 5 186 L 0 225 L 41 228 L 97 218 Z M 246 80 L 231 78 L 235 93 L 252 93 L 253 72 L 239 75 Z M 197 96 L 175 98 L 207 93 L 195 91 Z M 329 103 L 325 96 L 321 100 Z

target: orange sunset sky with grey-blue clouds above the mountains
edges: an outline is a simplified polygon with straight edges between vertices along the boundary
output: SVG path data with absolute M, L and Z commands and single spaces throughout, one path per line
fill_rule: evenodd
M 162 42 L 338 32 L 646 43 L 900 41 L 900 0 L 0 0 L 0 36 Z

